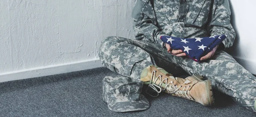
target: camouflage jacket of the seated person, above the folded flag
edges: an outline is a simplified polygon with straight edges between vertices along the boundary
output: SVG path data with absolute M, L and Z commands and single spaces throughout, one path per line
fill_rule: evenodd
M 160 36 L 195 38 L 225 34 L 224 47 L 233 45 L 228 0 L 136 0 L 132 18 L 135 39 L 161 43 Z

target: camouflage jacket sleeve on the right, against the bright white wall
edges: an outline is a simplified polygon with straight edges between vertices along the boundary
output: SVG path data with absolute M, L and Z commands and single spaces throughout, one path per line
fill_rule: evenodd
M 222 42 L 224 47 L 231 47 L 236 37 L 236 33 L 230 23 L 230 14 L 228 0 L 214 0 L 209 31 L 211 36 L 227 35 L 227 39 Z

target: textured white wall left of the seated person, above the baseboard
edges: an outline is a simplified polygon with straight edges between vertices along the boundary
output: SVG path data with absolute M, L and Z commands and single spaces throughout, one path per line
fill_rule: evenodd
M 95 60 L 103 38 L 133 38 L 133 4 L 134 0 L 0 0 L 0 75 Z

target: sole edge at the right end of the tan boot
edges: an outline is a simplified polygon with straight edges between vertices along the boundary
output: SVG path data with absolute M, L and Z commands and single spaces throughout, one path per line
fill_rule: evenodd
M 207 96 L 208 96 L 208 101 L 209 101 L 208 106 L 213 106 L 214 105 L 214 98 L 213 98 L 213 93 L 212 93 L 211 81 L 210 80 L 205 80 L 204 83 L 206 84 L 206 91 L 207 91 Z

